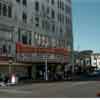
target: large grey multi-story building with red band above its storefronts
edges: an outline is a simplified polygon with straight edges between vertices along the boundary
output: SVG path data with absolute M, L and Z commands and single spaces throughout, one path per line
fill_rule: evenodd
M 72 63 L 71 9 L 71 0 L 0 0 L 0 72 L 35 78 Z

